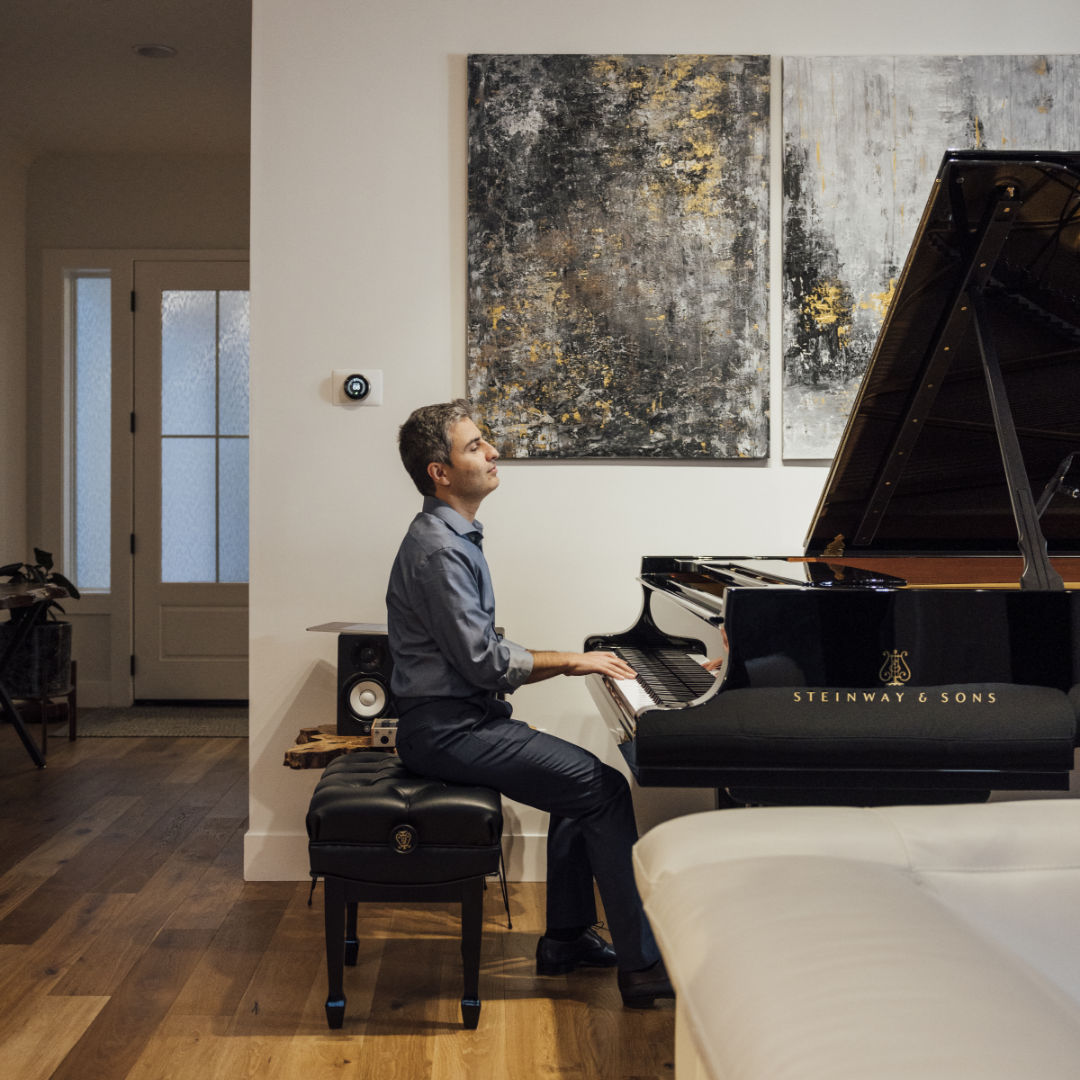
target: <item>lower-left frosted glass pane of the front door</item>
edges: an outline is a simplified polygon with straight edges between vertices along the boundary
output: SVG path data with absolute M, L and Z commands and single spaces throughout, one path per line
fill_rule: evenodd
M 213 438 L 161 441 L 161 580 L 217 580 Z

